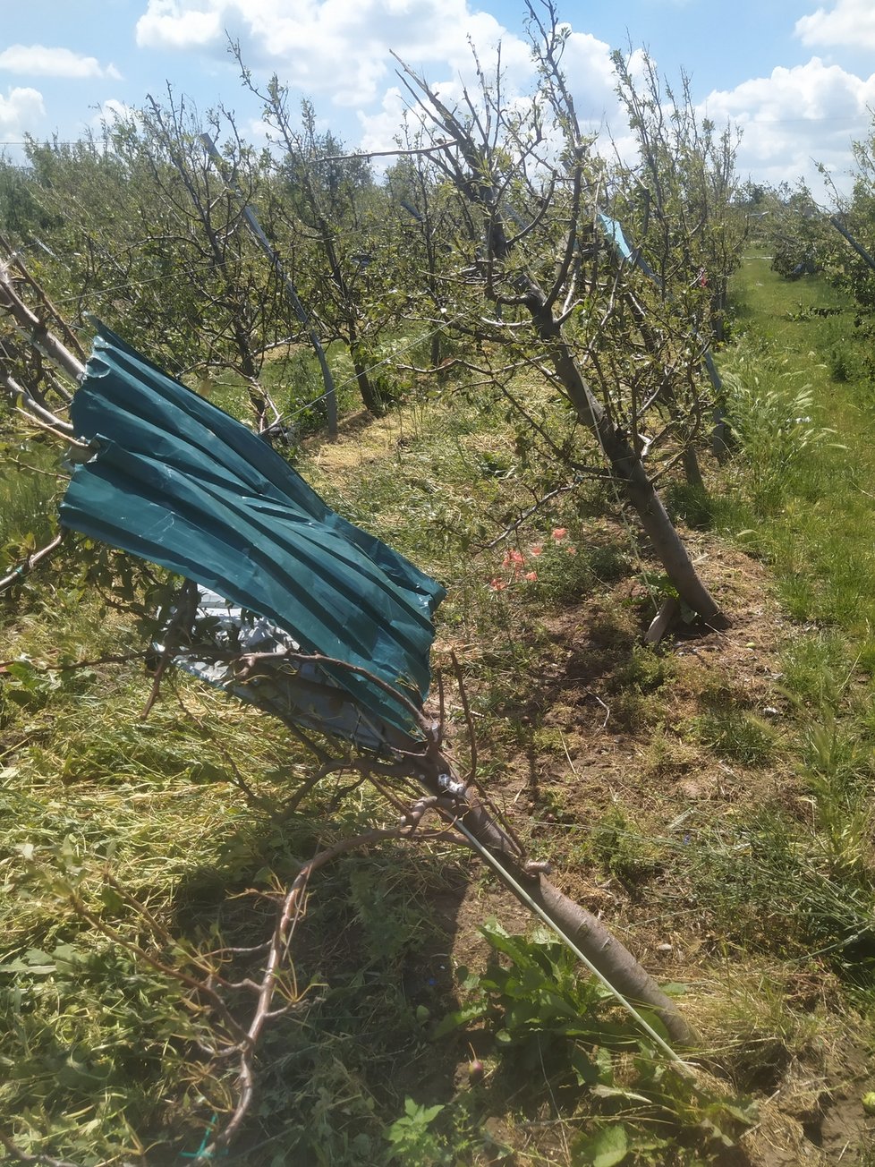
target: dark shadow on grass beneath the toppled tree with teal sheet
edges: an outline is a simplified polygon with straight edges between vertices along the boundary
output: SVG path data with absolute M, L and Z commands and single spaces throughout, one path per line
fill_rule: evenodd
M 290 885 L 298 865 L 324 846 L 314 822 L 331 837 L 362 829 L 349 812 L 330 824 L 324 811 L 314 805 L 264 824 L 230 843 L 226 862 L 192 871 L 176 888 L 174 931 L 201 948 L 264 944 L 276 920 L 272 887 Z M 314 874 L 289 949 L 286 991 L 294 985 L 298 1004 L 266 1028 L 258 1096 L 226 1161 L 260 1167 L 282 1155 L 372 1167 L 385 1161 L 385 1133 L 405 1098 L 453 1099 L 464 1050 L 453 1039 L 432 1041 L 430 1030 L 459 1008 L 452 951 L 469 882 L 455 853 L 441 858 L 415 844 L 350 853 Z M 258 983 L 264 963 L 264 952 L 238 953 L 223 976 Z M 247 1025 L 254 995 L 231 995 Z

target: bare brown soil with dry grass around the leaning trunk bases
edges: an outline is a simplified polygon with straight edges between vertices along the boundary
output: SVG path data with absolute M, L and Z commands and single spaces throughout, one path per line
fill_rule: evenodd
M 657 979 L 687 985 L 698 1025 L 720 959 L 718 938 L 694 914 L 666 918 L 664 903 L 651 896 L 646 885 L 636 888 L 606 876 L 568 845 L 576 830 L 586 833 L 617 806 L 631 809 L 642 833 L 651 830 L 654 836 L 676 826 L 682 830 L 687 816 L 706 812 L 715 822 L 757 803 L 777 801 L 791 816 L 808 813 L 792 769 L 779 755 L 768 767 L 728 764 L 690 740 L 688 726 L 701 710 L 702 693 L 718 703 L 743 700 L 780 736 L 790 710 L 779 687 L 779 647 L 798 629 L 783 620 L 770 595 L 768 573 L 755 558 L 706 533 L 690 532 L 687 538 L 708 587 L 730 616 L 730 628 L 676 629 L 658 650 L 668 679 L 652 698 L 643 694 L 643 708 L 629 710 L 622 704 L 618 673 L 646 627 L 646 606 L 629 602 L 642 596 L 640 585 L 624 580 L 611 592 L 562 610 L 547 621 L 552 649 L 527 701 L 504 711 L 519 727 L 518 741 L 505 739 L 495 747 L 480 742 L 480 759 L 489 768 L 501 757 L 490 792 L 516 830 L 531 840 L 533 853 L 555 859 L 554 882 L 601 915 Z M 452 647 L 439 641 L 438 659 L 441 649 Z M 658 701 L 656 727 L 649 701 Z M 671 879 L 668 871 L 662 883 Z M 482 880 L 471 880 L 459 899 L 448 901 L 443 917 L 452 932 L 449 969 L 482 967 L 487 945 L 477 928 L 490 916 L 509 931 L 531 927 L 519 904 Z M 835 995 L 830 973 L 816 980 L 811 984 L 810 972 L 786 978 L 786 991 L 799 998 L 792 1002 L 797 1009 L 800 1004 L 806 1007 L 806 998 L 814 1011 L 819 1001 Z M 720 1046 L 719 1013 L 708 1016 L 707 1004 L 704 1028 L 706 1043 Z M 758 1040 L 766 1037 L 761 1034 Z M 779 1039 L 775 1048 L 754 1084 L 747 1084 L 758 1104 L 760 1121 L 726 1161 L 754 1167 L 862 1162 L 875 1120 L 864 1113 L 861 1098 L 875 1083 L 853 1035 L 836 1032 L 806 1056 L 784 1048 Z M 457 1074 L 464 1064 L 460 1062 Z M 722 1074 L 719 1055 L 716 1072 Z M 533 1139 L 540 1153 L 562 1161 L 561 1147 L 551 1147 L 550 1138 Z

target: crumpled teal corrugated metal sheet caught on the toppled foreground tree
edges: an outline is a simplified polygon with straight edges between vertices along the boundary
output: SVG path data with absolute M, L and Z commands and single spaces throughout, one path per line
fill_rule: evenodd
M 211 588 L 421 706 L 440 584 L 335 515 L 260 438 L 103 324 L 70 412 L 97 453 L 74 471 L 63 526 Z M 363 710 L 421 736 L 372 679 L 326 671 Z

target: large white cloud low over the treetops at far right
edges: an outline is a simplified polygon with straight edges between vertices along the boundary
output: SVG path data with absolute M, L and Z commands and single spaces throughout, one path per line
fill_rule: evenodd
M 842 184 L 850 141 L 861 138 L 875 104 L 875 74 L 861 78 L 812 57 L 793 69 L 715 91 L 702 112 L 716 121 L 735 121 L 743 131 L 738 170 L 777 184 L 804 177 L 819 189 L 817 162 L 835 172 Z M 847 184 L 847 183 L 845 183 Z

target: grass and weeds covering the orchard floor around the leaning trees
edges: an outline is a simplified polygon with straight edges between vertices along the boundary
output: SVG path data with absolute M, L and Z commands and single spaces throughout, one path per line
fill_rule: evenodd
M 650 965 L 674 959 L 657 955 L 666 937 L 672 953 L 692 953 L 688 1007 L 710 1009 L 721 1089 L 768 1096 L 793 1058 L 822 1076 L 822 1035 L 855 1033 L 873 1006 L 875 455 L 850 315 L 808 312 L 840 299 L 755 260 L 736 302 L 736 348 L 721 361 L 735 373 L 744 447 L 709 496 L 677 483 L 667 495 L 688 525 L 735 540 L 771 573 L 790 626 L 766 697 L 716 669 L 691 693 L 694 641 L 690 651 L 685 640 L 682 651 L 638 643 L 653 572 L 615 498 L 586 485 L 519 522 L 558 484 L 555 470 L 520 448 L 485 389 L 432 386 L 382 447 L 365 434 L 304 445 L 300 466 L 329 503 L 449 586 L 439 635 L 462 662 L 481 777 L 508 783 L 532 853 L 592 895 Z M 306 364 L 290 370 L 289 406 L 314 387 L 301 392 Z M 567 417 L 526 387 L 565 433 Z M 0 490 L 18 497 L 0 508 L 7 541 L 36 537 L 30 518 L 48 513 L 54 480 L 7 475 Z M 5 613 L 4 659 L 19 663 L 0 676 L 0 1127 L 30 1154 L 173 1162 L 228 1112 L 236 1071 L 200 1044 L 215 1026 L 204 1001 L 154 962 L 200 976 L 217 949 L 261 943 L 275 890 L 299 865 L 391 813 L 349 775 L 323 778 L 289 812 L 309 757 L 279 724 L 184 678 L 141 722 L 150 678 L 139 662 L 46 671 L 141 648 L 133 616 L 80 574 L 35 576 Z M 447 704 L 464 762 L 449 680 Z M 586 748 L 574 743 L 583 719 L 600 727 Z M 679 787 L 705 777 L 716 792 Z M 570 1061 L 561 1075 L 544 1069 L 556 1019 L 546 1006 L 525 1012 L 526 960 L 540 952 L 537 994 L 560 1009 L 588 992 L 565 956 L 545 965 L 550 945 L 520 939 L 517 973 L 498 962 L 492 987 L 483 970 L 467 987 L 454 980 L 447 920 L 463 896 L 469 916 L 485 914 L 491 895 L 444 847 L 373 847 L 314 879 L 292 945 L 292 1008 L 260 1049 L 257 1105 L 229 1161 L 374 1167 L 394 1146 L 397 1162 L 485 1163 L 509 1144 L 520 1163 L 546 1165 L 596 1147 L 617 1117 L 642 1161 L 694 1161 L 701 1107 L 660 1093 L 658 1113 L 646 1111 L 662 1063 L 648 1055 L 624 1069 L 621 1054 L 609 1072 L 592 1043 L 609 1044 L 610 1028 L 588 1033 L 582 1057 L 560 1042 L 553 1053 Z M 469 945 L 477 922 L 463 924 Z M 235 980 L 253 967 L 237 952 L 223 971 Z M 817 1018 L 792 997 L 804 978 L 834 994 Z M 435 1039 L 435 1020 L 478 992 L 483 1025 Z M 245 990 L 230 1002 L 249 1015 Z M 510 1044 L 532 1058 L 522 1081 L 502 1054 L 509 1016 Z M 482 1089 L 459 1075 L 468 1042 L 487 1060 Z M 618 1093 L 574 1079 L 590 1062 Z M 623 1096 L 635 1083 L 644 1103 Z M 662 1133 L 646 1149 L 654 1114 Z

